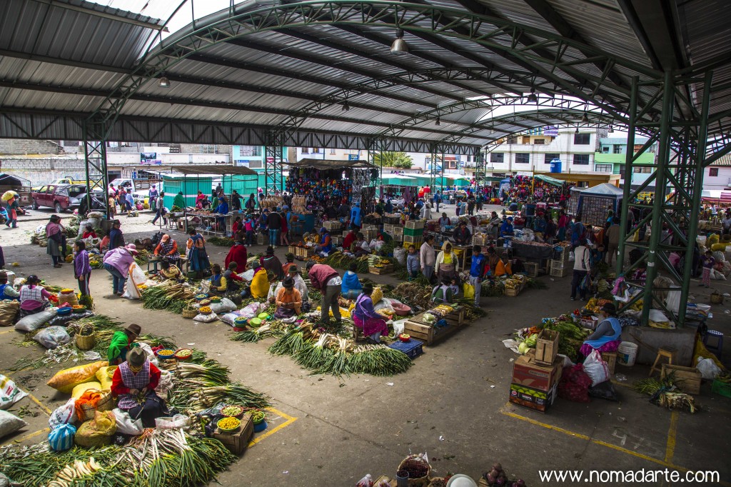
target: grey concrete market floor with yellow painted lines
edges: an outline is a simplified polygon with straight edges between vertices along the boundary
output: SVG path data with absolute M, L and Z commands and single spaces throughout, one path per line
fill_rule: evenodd
M 37 273 L 53 284 L 75 287 L 70 265 L 52 268 L 45 249 L 28 243 L 24 230 L 45 224 L 49 214 L 34 212 L 31 218 L 37 221 L 21 219 L 20 230 L 0 230 L 7 267 L 17 261 L 21 265 L 13 271 Z M 145 223 L 148 220 L 147 214 L 123 217 L 127 240 L 151 235 L 154 227 Z M 174 238 L 182 241 L 183 235 Z M 262 250 L 254 247 L 251 252 Z M 212 262 L 222 262 L 227 249 L 209 246 L 209 252 Z M 284 252 L 277 250 L 280 258 Z M 487 317 L 442 344 L 425 348 L 406 374 L 387 378 L 311 377 L 289 357 L 268 355 L 272 339 L 241 344 L 227 339 L 230 328 L 220 322 L 196 324 L 168 312 L 144 310 L 135 301 L 105 298 L 110 295 L 111 279 L 103 270 L 94 271 L 91 290 L 98 312 L 204 350 L 229 366 L 235 380 L 273 398 L 270 428 L 257 434 L 256 445 L 219 477 L 225 486 L 353 486 L 369 472 L 374 478 L 395 475 L 399 461 L 417 452 L 428 453 L 434 475 L 463 472 L 477 479 L 499 461 L 529 486 L 557 485 L 539 481 L 542 469 L 579 469 L 588 475 L 589 470 L 666 467 L 717 470 L 721 485 L 731 485 L 727 462 L 731 400 L 711 396 L 707 384 L 697 396 L 702 411 L 695 415 L 660 409 L 626 387 L 647 377 L 645 366 L 618 366 L 617 372 L 628 377 L 617 383 L 618 403 L 558 399 L 545 415 L 507 404 L 512 360 L 517 355 L 501 340 L 516 328 L 537 324 L 541 317 L 575 308 L 568 298 L 568 277 L 541 279 L 548 290 L 526 290 L 518 298 L 483 298 Z M 378 280 L 394 282 L 387 276 Z M 693 285 L 698 302 L 708 302 L 709 291 Z M 719 289 L 725 292 L 731 287 L 721 282 Z M 725 310 L 724 305 L 713 306 L 711 328 L 729 334 L 731 314 Z M 21 340 L 21 333 L 12 328 L 0 330 L 3 373 L 18 358 L 42 352 L 35 344 L 18 347 Z M 724 358 L 729 355 L 727 350 Z M 29 426 L 3 442 L 45 439 L 47 432 L 42 429 L 48 426 L 47 413 L 67 399 L 45 385 L 60 368 L 11 375 L 40 404 L 23 399 L 12 408 L 16 413 L 24 408 Z

